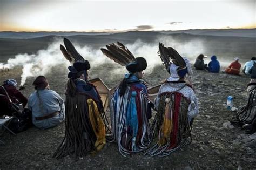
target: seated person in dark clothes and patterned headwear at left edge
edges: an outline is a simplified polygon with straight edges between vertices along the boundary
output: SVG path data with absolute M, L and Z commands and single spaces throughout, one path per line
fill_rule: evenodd
M 0 117 L 3 115 L 12 116 L 12 113 L 17 112 L 11 102 L 16 104 L 22 103 L 23 108 L 26 106 L 26 103 L 28 103 L 28 99 L 16 89 L 16 86 L 16 80 L 8 79 L 4 81 L 4 84 L 0 87 Z

